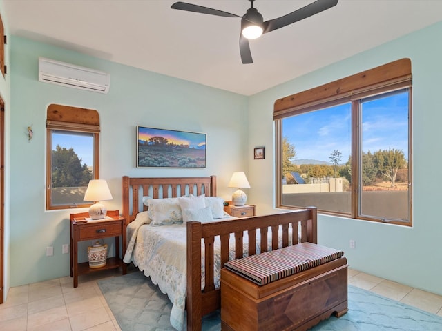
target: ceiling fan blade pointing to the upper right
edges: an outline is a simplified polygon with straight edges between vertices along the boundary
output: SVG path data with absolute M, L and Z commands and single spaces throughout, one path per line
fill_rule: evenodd
M 322 12 L 323 10 L 327 10 L 336 6 L 337 3 L 338 0 L 316 0 L 315 2 L 310 3 L 305 7 L 291 12 L 290 14 L 278 17 L 277 19 L 270 19 L 269 21 L 265 21 L 263 23 L 262 33 L 267 33 L 279 28 L 283 28 L 291 23 L 295 23 L 302 19 L 307 19 L 307 17 L 318 14 L 318 12 Z

